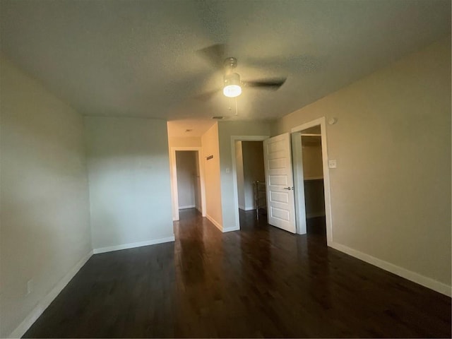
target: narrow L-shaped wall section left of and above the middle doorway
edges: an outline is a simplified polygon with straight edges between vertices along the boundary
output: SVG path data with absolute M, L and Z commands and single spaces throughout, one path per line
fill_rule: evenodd
M 231 136 L 270 136 L 270 123 L 267 121 L 220 121 L 218 123 L 221 206 L 224 230 L 236 228 Z

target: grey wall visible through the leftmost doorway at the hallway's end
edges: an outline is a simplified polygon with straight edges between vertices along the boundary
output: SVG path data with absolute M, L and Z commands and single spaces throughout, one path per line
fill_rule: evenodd
M 176 151 L 179 209 L 196 206 L 196 152 Z

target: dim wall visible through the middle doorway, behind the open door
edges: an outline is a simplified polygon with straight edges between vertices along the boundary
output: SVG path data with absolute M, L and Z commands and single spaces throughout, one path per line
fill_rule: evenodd
M 244 172 L 244 206 L 245 210 L 256 208 L 254 201 L 254 182 L 264 182 L 266 179 L 263 165 L 262 141 L 243 141 L 243 172 Z

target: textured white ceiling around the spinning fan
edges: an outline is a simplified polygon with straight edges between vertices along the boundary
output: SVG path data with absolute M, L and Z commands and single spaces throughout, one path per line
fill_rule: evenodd
M 1 0 L 1 52 L 93 115 L 275 119 L 450 32 L 448 0 Z M 222 95 L 194 100 L 222 83 L 196 54 L 216 43 L 242 79 L 286 83 L 245 89 L 237 117 Z

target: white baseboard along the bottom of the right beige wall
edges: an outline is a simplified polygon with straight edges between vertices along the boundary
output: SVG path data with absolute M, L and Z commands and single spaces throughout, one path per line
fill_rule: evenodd
M 400 266 L 396 266 L 393 263 L 388 263 L 388 261 L 383 261 L 379 258 L 375 258 L 374 256 L 369 256 L 369 254 L 362 253 L 361 251 L 357 251 L 356 249 L 351 249 L 350 247 L 331 242 L 328 246 L 333 247 L 333 249 L 337 249 L 338 251 L 349 254 L 350 256 L 355 256 L 355 258 L 361 259 L 371 265 L 382 268 L 383 270 L 388 270 L 391 273 L 399 275 L 402 278 L 411 280 L 414 283 L 427 287 L 431 290 L 439 292 L 443 295 L 447 295 L 451 297 L 452 295 L 452 287 L 448 286 L 444 283 L 440 283 L 439 281 L 433 280 L 432 278 L 427 278 L 424 275 L 420 275 L 419 273 L 412 272 L 411 270 L 407 270 L 406 268 L 402 268 Z

